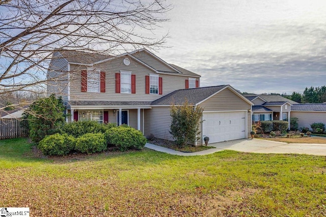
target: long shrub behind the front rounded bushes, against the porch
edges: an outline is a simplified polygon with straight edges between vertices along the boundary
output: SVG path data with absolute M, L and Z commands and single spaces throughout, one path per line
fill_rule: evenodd
M 98 123 L 94 120 L 73 121 L 61 128 L 61 133 L 79 137 L 87 133 L 105 133 L 108 129 L 116 127 L 116 123 Z

